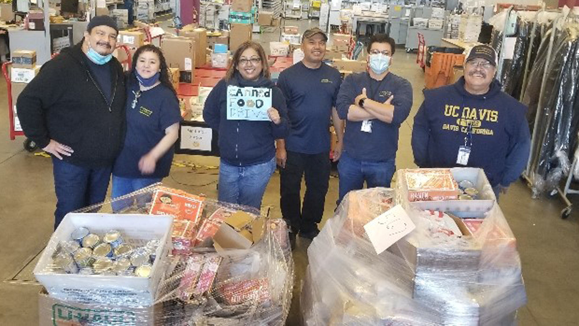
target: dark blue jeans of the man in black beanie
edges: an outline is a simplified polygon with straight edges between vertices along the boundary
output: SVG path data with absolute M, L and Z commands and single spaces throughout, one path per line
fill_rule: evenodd
M 52 157 L 56 211 L 54 229 L 64 215 L 79 208 L 104 202 L 111 179 L 112 167 L 91 169 Z

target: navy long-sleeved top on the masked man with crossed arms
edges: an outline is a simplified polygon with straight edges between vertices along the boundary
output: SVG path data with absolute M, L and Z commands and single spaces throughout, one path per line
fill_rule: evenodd
M 336 109 L 340 119 L 348 118 L 350 105 L 366 88 L 368 98 L 385 102 L 393 95 L 394 117 L 391 123 L 372 119 L 372 132 L 361 130 L 362 122 L 348 120 L 344 134 L 344 151 L 355 159 L 371 162 L 383 162 L 396 157 L 398 149 L 398 129 L 408 118 L 412 107 L 412 86 L 408 80 L 389 72 L 384 79 L 375 80 L 368 72 L 352 74 L 346 77 L 340 86 Z

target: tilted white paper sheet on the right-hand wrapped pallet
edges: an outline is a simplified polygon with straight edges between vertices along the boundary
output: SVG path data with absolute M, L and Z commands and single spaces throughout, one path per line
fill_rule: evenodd
M 400 204 L 364 225 L 366 234 L 378 255 L 415 228 L 416 225 Z

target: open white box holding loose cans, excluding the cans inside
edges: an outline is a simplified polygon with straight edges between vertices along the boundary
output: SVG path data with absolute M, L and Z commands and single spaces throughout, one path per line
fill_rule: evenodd
M 50 296 L 78 302 L 109 303 L 115 298 L 127 305 L 151 305 L 157 285 L 166 269 L 166 257 L 171 250 L 173 217 L 144 214 L 68 213 L 58 225 L 34 268 L 34 276 Z M 109 230 L 119 230 L 124 241 L 144 246 L 157 239 L 160 245 L 149 277 L 105 276 L 98 274 L 63 274 L 50 270 L 60 241 L 71 240 L 71 233 L 85 227 L 102 236 Z

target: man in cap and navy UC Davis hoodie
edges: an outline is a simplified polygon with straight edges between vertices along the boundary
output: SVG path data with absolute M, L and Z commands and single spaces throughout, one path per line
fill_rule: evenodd
M 472 48 L 464 77 L 424 91 L 414 118 L 412 151 L 419 167 L 479 167 L 497 195 L 521 175 L 530 151 L 527 108 L 494 79 L 496 53 Z

